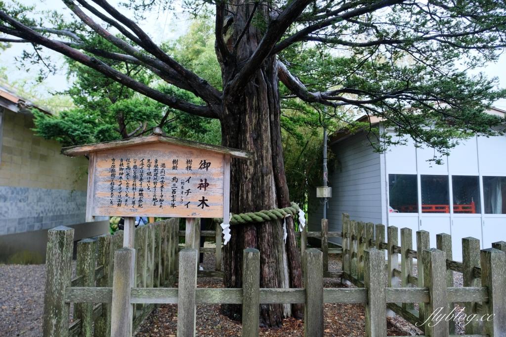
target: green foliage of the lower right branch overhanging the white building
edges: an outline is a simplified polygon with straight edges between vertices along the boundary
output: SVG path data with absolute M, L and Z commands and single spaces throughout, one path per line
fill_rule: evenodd
M 433 147 L 438 154 L 432 160 L 440 163 L 462 139 L 503 134 L 494 127 L 506 119 L 485 111 L 506 97 L 506 90 L 497 89 L 497 78 L 468 76 L 456 69 L 454 55 L 420 61 L 409 53 L 384 48 L 349 48 L 335 53 L 330 46 L 300 43 L 283 51 L 280 58 L 309 90 L 346 94 L 339 98 L 342 107 L 320 113 L 319 122 L 334 132 L 368 131 L 371 139 L 377 139 L 370 144 L 375 151 L 386 151 L 411 138 L 416 146 Z M 285 87 L 280 91 L 289 97 Z M 383 120 L 396 137 L 372 129 L 368 121 L 356 121 L 364 114 Z

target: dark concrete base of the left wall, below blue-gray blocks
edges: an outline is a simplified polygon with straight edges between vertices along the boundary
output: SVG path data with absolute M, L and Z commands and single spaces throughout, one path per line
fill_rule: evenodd
M 109 232 L 109 221 L 87 222 L 67 226 L 74 228 L 74 241 Z M 0 235 L 0 263 L 45 263 L 48 230 Z M 13 256 L 16 255 L 16 258 Z M 27 261 L 19 261 L 19 260 Z

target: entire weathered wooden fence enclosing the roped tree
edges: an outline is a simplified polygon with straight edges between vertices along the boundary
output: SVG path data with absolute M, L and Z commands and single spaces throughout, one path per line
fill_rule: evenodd
M 322 226 L 324 231 L 321 233 L 322 239 L 325 236 L 328 238 L 329 233 L 325 233 L 326 227 L 324 223 Z M 169 250 L 174 252 L 177 247 L 177 236 L 180 234 L 175 228 L 176 226 L 173 227 L 173 236 L 168 235 L 168 237 L 174 238 L 173 244 L 168 244 L 174 248 L 174 250 Z M 485 319 L 481 323 L 478 321 L 476 326 L 472 328 L 468 328 L 468 326 L 474 323 L 468 324 L 466 326 L 467 336 L 506 335 L 505 242 L 496 242 L 493 244 L 494 248 L 480 251 L 479 240 L 463 239 L 465 261 L 459 263 L 451 260 L 451 238 L 449 235 L 438 235 L 438 248 L 429 248 L 429 233 L 419 231 L 416 233 L 417 251 L 414 251 L 409 229 L 403 228 L 401 230 L 401 245 L 399 246 L 397 228 L 389 227 L 386 239 L 385 226 L 349 221 L 349 217 L 343 215 L 343 232 L 340 234 L 343 237 L 344 270 L 332 273 L 354 283 L 357 288 L 323 288 L 325 243 L 322 244 L 320 250 L 310 248 L 303 251 L 304 288 L 260 288 L 260 252 L 253 248 L 244 250 L 242 288 L 197 288 L 199 254 L 197 238 L 199 243 L 202 234 L 217 235 L 217 233 L 199 233 L 196 228 L 197 226 L 187 226 L 185 232 L 186 248 L 179 252 L 178 288 L 156 287 L 154 282 L 151 283 L 151 278 L 147 276 L 145 283 L 139 283 L 139 273 L 135 273 L 137 280 L 128 277 L 132 274 L 131 271 L 139 265 L 139 256 L 144 256 L 142 252 L 138 252 L 139 249 L 142 249 L 137 245 L 137 237 L 143 237 L 140 233 L 136 233 L 136 249 L 123 247 L 115 250 L 114 262 L 110 262 L 110 264 L 114 264 L 113 273 L 106 273 L 104 264 L 104 275 L 109 275 L 107 283 L 100 283 L 100 286 L 97 283 L 97 287 L 92 287 L 88 285 L 92 282 L 87 283 L 88 279 L 83 276 L 82 284 L 75 283 L 68 286 L 70 285 L 70 276 L 67 277 L 67 274 L 70 273 L 69 254 L 71 251 L 69 247 L 72 243 L 68 237 L 72 230 L 68 228 L 50 230 L 52 245 L 48 244 L 47 275 L 49 283 L 47 283 L 46 290 L 47 294 L 49 293 L 50 301 L 45 303 L 44 335 L 67 335 L 69 332 L 68 320 L 65 321 L 65 319 L 58 317 L 68 317 L 69 303 L 76 303 L 77 307 L 84 308 L 84 311 L 81 309 L 81 316 L 75 316 L 77 319 L 81 319 L 81 322 L 78 323 L 76 320 L 73 324 L 80 324 L 81 331 L 85 331 L 85 326 L 86 329 L 89 329 L 90 322 L 95 319 L 96 336 L 104 335 L 97 333 L 102 333 L 101 326 L 105 326 L 107 329 L 107 324 L 110 324 L 112 335 L 130 337 L 136 327 L 135 319 L 141 317 L 140 306 L 162 303 L 178 304 L 177 333 L 180 337 L 195 335 L 195 310 L 198 304 L 242 304 L 242 335 L 256 337 L 259 335 L 260 304 L 278 303 L 305 304 L 304 333 L 307 337 L 323 336 L 323 304 L 325 303 L 363 303 L 365 305 L 365 332 L 368 337 L 387 335 L 386 315 L 388 309 L 408 317 L 413 323 L 420 324 L 421 322 L 421 328 L 425 330 L 427 336 L 446 337 L 452 335 L 454 332 L 451 330 L 448 320 L 442 319 L 438 324 L 435 324 L 437 321 L 435 322 L 430 314 L 438 311 L 438 316 L 444 317 L 451 312 L 454 303 L 465 305 L 466 308 L 469 308 L 469 313 L 476 312 L 486 315 L 486 317 L 493 317 L 493 319 Z M 308 234 L 307 236 L 317 236 L 312 232 L 306 232 L 306 234 Z M 304 232 L 301 237 L 302 235 L 305 235 Z M 113 246 L 113 249 L 116 247 Z M 145 252 L 147 250 L 145 249 Z M 387 251 L 387 277 L 385 277 L 385 250 Z M 160 254 L 160 257 L 162 255 Z M 398 269 L 399 255 L 401 255 L 400 270 Z M 100 256 L 99 250 L 99 263 Z M 133 256 L 137 256 L 135 265 L 131 262 Z M 156 254 L 153 255 L 154 259 L 156 259 L 155 256 Z M 412 259 L 417 259 L 417 277 L 413 275 Z M 146 265 L 149 265 L 149 258 L 144 258 L 144 260 Z M 167 261 L 174 262 L 175 256 L 168 257 Z M 94 264 L 89 263 L 88 266 L 94 266 Z M 174 267 L 170 267 L 170 271 L 174 271 Z M 95 270 L 100 268 L 101 265 L 95 267 Z M 89 267 L 87 270 L 91 269 L 93 268 Z M 163 274 L 163 268 L 161 270 L 161 274 Z M 463 272 L 464 287 L 453 287 L 452 282 L 450 284 L 451 270 Z M 100 273 L 99 271 L 97 274 L 100 275 Z M 112 283 L 109 283 L 111 274 L 113 274 Z M 168 272 L 168 274 L 174 276 L 174 273 Z M 399 279 L 402 280 L 402 287 L 398 286 Z M 386 286 L 387 281 L 388 286 Z M 48 284 L 50 284 L 49 292 Z M 153 285 L 151 286 L 151 284 Z M 415 303 L 418 303 L 420 314 L 413 310 Z M 95 304 L 99 305 L 95 306 Z M 134 311 L 137 313 L 136 318 L 129 317 L 132 312 L 129 306 L 136 306 L 138 309 Z M 66 316 L 64 310 L 67 310 Z M 97 312 L 97 314 L 93 315 L 93 312 Z M 109 316 L 108 312 L 111 313 Z M 92 317 L 92 319 L 88 317 Z M 424 318 L 428 320 L 424 321 Z M 102 323 L 100 319 L 106 323 Z M 83 335 L 90 334 L 83 333 Z

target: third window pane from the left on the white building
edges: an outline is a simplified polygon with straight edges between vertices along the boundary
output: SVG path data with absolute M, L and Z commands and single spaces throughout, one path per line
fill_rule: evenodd
M 453 213 L 481 213 L 478 176 L 452 176 Z

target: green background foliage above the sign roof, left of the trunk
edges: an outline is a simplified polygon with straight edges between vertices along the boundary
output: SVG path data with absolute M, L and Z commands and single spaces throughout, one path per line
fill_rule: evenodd
M 209 27 L 209 20 L 197 20 L 175 44 L 164 47 L 187 67 L 206 73 L 204 78 L 210 83 L 221 85 Z M 96 35 L 89 40 L 97 48 L 118 52 Z M 67 64 L 68 76 L 75 79 L 72 87 L 60 94 L 71 97 L 75 108 L 53 116 L 35 112 L 33 130 L 37 135 L 73 146 L 142 136 L 159 125 L 169 136 L 221 144 L 221 127 L 216 120 L 169 108 L 71 59 L 67 59 Z M 192 93 L 159 81 L 143 67 L 123 62 L 110 65 L 164 94 L 202 104 Z

